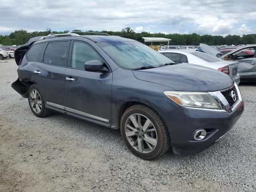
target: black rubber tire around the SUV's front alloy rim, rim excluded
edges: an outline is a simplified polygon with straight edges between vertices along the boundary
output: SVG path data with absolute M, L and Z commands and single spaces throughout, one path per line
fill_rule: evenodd
M 132 115 L 132 114 L 142 114 L 142 115 L 146 116 L 152 122 L 152 124 L 154 125 L 154 127 L 156 129 L 157 145 L 156 145 L 155 149 L 150 153 L 138 152 L 136 149 L 134 149 L 131 146 L 130 142 L 126 138 L 125 123 L 126 123 L 126 120 L 129 118 L 129 116 Z M 162 128 L 161 128 L 162 126 L 163 125 L 159 124 L 158 120 L 156 120 L 156 117 L 152 113 L 150 113 L 147 110 L 143 110 L 142 108 L 132 106 L 124 112 L 124 114 L 121 118 L 120 131 L 121 131 L 121 135 L 122 135 L 122 139 L 123 139 L 124 143 L 132 151 L 132 153 L 134 153 L 136 156 L 138 156 L 140 158 L 150 160 L 150 159 L 157 158 L 162 153 L 162 150 L 164 148 L 164 142 L 163 142 L 164 133 L 163 133 Z

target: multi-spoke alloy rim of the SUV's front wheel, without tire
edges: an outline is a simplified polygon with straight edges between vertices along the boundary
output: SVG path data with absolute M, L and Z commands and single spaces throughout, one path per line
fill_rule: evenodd
M 128 117 L 125 123 L 125 134 L 131 146 L 141 153 L 150 153 L 156 148 L 156 128 L 142 114 L 132 114 Z

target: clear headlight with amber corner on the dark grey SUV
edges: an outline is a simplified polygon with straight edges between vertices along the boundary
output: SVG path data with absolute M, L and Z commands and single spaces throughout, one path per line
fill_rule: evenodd
M 164 94 L 180 106 L 221 109 L 220 104 L 207 92 L 164 91 Z

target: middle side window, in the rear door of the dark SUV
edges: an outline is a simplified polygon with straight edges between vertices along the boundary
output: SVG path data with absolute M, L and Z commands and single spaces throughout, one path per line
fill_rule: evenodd
M 68 49 L 70 42 L 50 42 L 44 52 L 44 63 L 68 66 Z

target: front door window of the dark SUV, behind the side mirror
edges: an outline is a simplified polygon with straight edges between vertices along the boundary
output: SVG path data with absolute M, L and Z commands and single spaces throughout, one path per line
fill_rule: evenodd
M 84 63 L 90 60 L 99 60 L 102 62 L 101 57 L 88 44 L 74 42 L 71 67 L 84 70 Z

